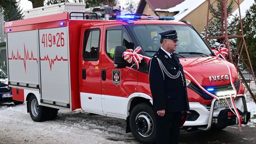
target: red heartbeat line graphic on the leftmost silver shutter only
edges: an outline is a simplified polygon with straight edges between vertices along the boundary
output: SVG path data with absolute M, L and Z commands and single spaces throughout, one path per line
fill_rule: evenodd
M 26 61 L 27 60 L 37 61 L 37 58 L 34 58 L 33 51 L 31 51 L 31 56 L 29 57 L 28 50 L 26 51 L 25 43 L 24 43 L 24 58 L 21 57 L 21 55 L 18 53 L 18 50 L 17 50 L 16 56 L 13 54 L 13 50 L 11 50 L 11 58 L 8 57 L 8 59 L 9 60 L 23 60 L 25 73 L 27 72 Z M 37 61 L 37 63 L 38 63 L 38 61 Z

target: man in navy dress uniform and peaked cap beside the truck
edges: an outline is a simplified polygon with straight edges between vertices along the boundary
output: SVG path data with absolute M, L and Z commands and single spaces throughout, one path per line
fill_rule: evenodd
M 175 30 L 160 33 L 161 47 L 149 62 L 149 83 L 156 119 L 156 144 L 178 144 L 182 111 L 189 109 L 183 67 L 173 52 Z

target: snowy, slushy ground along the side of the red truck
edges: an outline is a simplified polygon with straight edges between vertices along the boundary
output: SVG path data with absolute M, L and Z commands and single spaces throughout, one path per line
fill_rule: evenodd
M 0 105 L 0 144 L 137 144 L 125 126 L 123 119 L 81 110 L 59 110 L 54 121 L 34 122 L 26 104 Z

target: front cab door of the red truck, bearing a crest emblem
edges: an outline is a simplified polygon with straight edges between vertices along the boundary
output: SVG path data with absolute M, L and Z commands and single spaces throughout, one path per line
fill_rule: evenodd
M 104 114 L 125 117 L 127 98 L 136 92 L 137 70 L 126 67 L 114 67 L 114 48 L 126 46 L 134 49 L 134 43 L 128 31 L 122 25 L 105 25 L 103 31 L 103 44 L 101 49 L 101 85 L 102 108 Z M 131 66 L 131 65 L 130 65 Z

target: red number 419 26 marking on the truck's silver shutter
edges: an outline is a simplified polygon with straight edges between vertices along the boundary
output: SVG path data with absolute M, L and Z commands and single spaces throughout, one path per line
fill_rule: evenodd
M 52 35 L 51 33 L 43 34 L 42 44 L 44 44 L 44 47 L 52 47 L 53 45 L 56 45 L 57 47 L 64 46 L 64 33 L 56 33 L 56 35 Z

